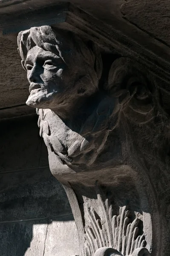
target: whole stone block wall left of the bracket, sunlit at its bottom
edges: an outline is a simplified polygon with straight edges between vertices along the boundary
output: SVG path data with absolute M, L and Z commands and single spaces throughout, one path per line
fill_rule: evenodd
M 0 256 L 77 253 L 75 222 L 49 170 L 37 115 L 1 120 L 0 134 Z

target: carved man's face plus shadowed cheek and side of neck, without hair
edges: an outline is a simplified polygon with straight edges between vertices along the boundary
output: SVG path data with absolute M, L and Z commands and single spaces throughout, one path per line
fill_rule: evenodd
M 55 109 L 58 105 L 68 105 L 81 93 L 90 95 L 94 92 L 95 87 L 86 81 L 86 64 L 76 58 L 74 51 L 68 55 L 65 61 L 59 54 L 38 46 L 28 51 L 25 67 L 30 95 L 27 105 Z

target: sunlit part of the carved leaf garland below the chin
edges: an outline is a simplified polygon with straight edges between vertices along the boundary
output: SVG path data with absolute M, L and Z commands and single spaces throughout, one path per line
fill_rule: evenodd
M 48 149 L 58 156 L 61 163 L 71 164 L 71 157 L 81 152 L 84 137 L 68 128 L 64 122 L 50 109 L 37 109 L 40 136 Z

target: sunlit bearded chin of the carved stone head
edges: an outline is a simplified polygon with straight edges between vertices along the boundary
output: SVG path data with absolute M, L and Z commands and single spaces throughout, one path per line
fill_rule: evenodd
M 52 99 L 53 93 L 47 93 L 46 90 L 32 90 L 26 105 L 32 108 L 49 108 Z

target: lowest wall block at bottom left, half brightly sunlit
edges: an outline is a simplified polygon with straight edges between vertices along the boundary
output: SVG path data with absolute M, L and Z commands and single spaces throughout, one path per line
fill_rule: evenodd
M 0 241 L 1 256 L 76 255 L 78 244 L 75 222 L 66 217 L 0 224 Z

